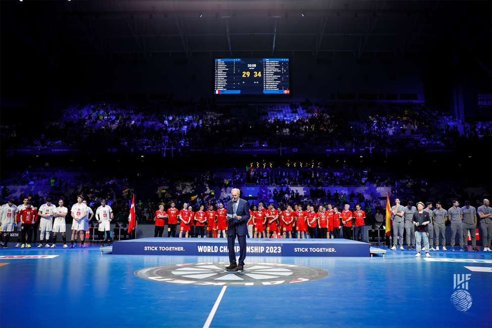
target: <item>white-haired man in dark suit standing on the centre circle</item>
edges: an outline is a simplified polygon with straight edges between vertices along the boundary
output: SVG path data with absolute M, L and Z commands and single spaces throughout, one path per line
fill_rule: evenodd
M 227 203 L 227 220 L 229 226 L 227 229 L 227 246 L 229 247 L 230 265 L 226 269 L 242 270 L 244 259 L 246 258 L 246 233 L 248 231 L 247 222 L 249 220 L 249 203 L 239 198 L 240 190 L 234 188 L 231 191 L 232 201 Z M 234 242 L 236 235 L 239 242 L 239 262 L 236 264 L 236 252 L 234 251 Z

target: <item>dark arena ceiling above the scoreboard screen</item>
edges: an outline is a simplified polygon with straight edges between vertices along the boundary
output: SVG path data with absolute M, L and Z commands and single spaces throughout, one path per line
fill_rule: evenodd
M 473 0 L 4 0 L 0 31 L 12 51 L 103 58 L 403 57 L 486 48 L 490 7 Z

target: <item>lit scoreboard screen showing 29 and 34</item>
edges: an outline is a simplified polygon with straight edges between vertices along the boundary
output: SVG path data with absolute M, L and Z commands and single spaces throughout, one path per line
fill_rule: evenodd
M 215 94 L 289 94 L 289 59 L 215 59 Z

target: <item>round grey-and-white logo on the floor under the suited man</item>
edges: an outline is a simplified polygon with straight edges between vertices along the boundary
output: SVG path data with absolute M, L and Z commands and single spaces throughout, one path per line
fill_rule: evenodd
M 146 267 L 135 276 L 156 282 L 201 286 L 272 286 L 306 283 L 328 276 L 309 266 L 246 262 L 244 269 L 226 271 L 229 262 L 167 264 Z

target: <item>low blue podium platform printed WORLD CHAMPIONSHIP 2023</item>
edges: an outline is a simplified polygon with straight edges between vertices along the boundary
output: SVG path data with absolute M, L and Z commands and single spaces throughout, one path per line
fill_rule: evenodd
M 370 244 L 347 239 L 251 239 L 247 256 L 369 257 Z M 235 251 L 239 256 L 236 240 Z M 226 238 L 141 238 L 113 243 L 117 255 L 228 256 Z

